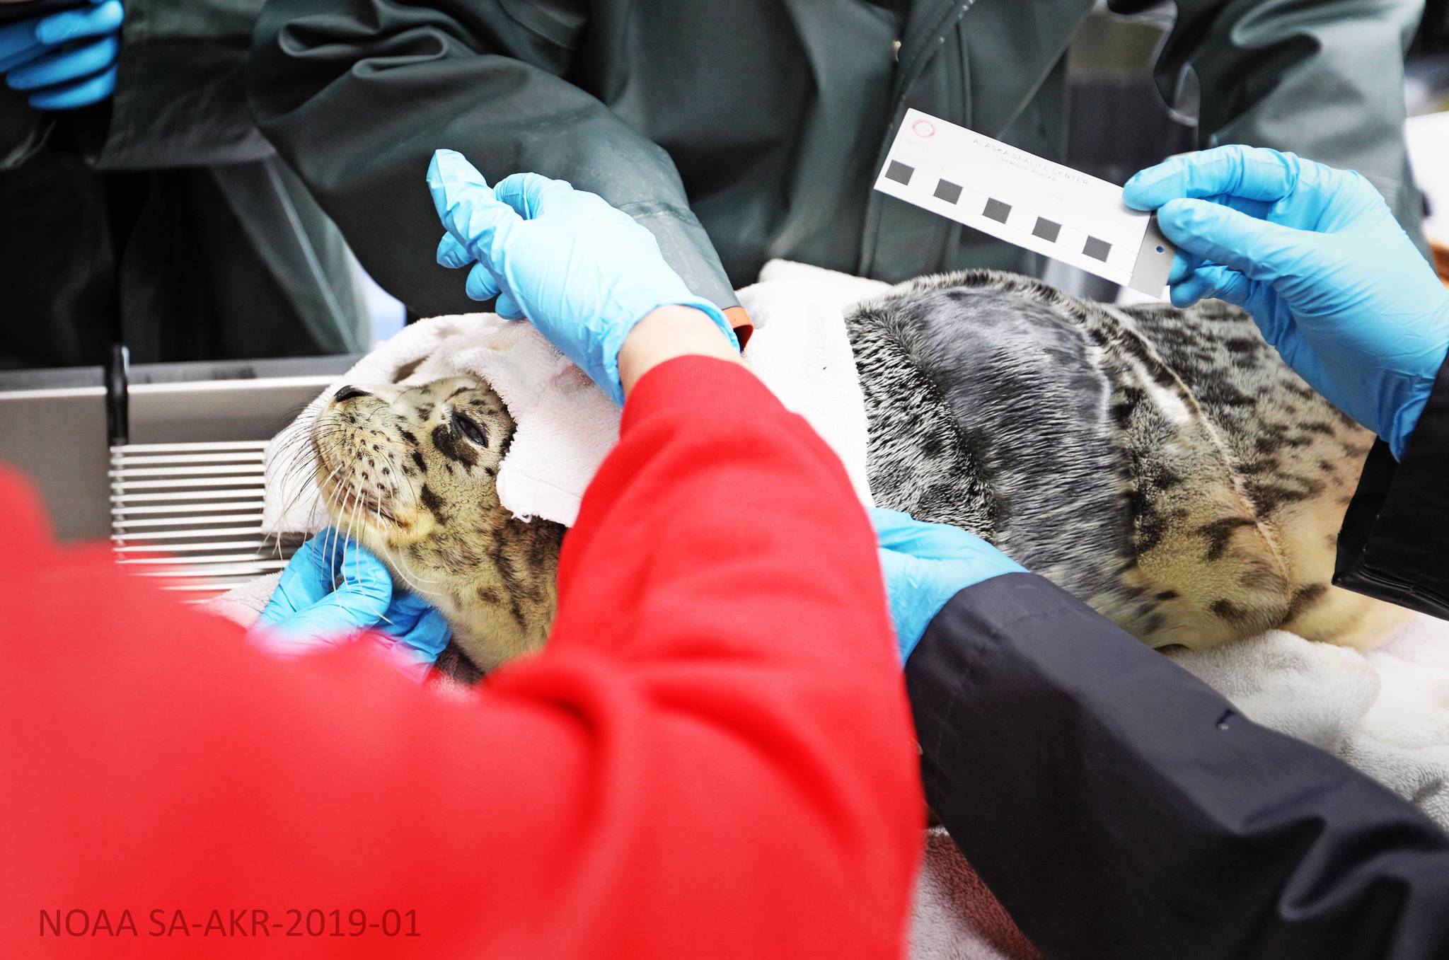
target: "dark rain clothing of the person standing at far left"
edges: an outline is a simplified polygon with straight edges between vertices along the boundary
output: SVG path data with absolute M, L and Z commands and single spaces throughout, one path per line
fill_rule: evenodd
M 116 94 L 39 113 L 0 87 L 0 368 L 345 353 L 367 323 L 341 233 L 246 107 L 261 0 L 126 0 Z

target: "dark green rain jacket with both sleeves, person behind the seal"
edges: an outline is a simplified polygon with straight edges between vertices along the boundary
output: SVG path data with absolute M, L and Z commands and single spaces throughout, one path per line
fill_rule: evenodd
M 261 129 L 368 271 L 420 314 L 435 148 L 496 180 L 593 190 L 722 306 L 772 256 L 888 281 L 1027 255 L 871 191 L 907 107 L 1062 159 L 1065 51 L 1091 0 L 268 0 Z M 1149 0 L 1116 0 L 1135 13 Z M 1421 0 L 1179 0 L 1156 78 L 1201 87 L 1201 140 L 1366 174 L 1417 232 L 1403 51 Z M 897 43 L 898 55 L 897 55 Z

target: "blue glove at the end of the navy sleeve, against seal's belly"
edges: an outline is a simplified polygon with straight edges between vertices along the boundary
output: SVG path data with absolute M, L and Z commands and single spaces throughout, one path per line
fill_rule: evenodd
M 923 523 L 898 510 L 871 508 L 881 544 L 881 570 L 891 601 L 901 663 L 920 643 L 946 601 L 968 586 L 1026 568 L 978 536 L 943 523 Z

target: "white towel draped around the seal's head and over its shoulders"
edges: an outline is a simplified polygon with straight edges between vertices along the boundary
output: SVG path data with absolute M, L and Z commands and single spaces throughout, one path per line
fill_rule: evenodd
M 865 398 L 843 310 L 885 284 L 800 264 L 771 262 L 739 291 L 755 320 L 751 369 L 840 456 L 862 502 Z M 533 326 L 496 314 L 423 320 L 381 343 L 329 385 L 267 450 L 262 520 L 278 533 L 326 524 L 314 478 L 293 469 L 322 404 L 343 384 L 422 384 L 471 374 L 503 398 L 517 424 L 498 468 L 498 500 L 513 514 L 572 526 L 584 489 L 619 439 L 619 408 Z

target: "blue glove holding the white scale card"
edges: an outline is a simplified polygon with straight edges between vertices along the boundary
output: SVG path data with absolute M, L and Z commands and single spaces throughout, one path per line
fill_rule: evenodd
M 1403 456 L 1449 353 L 1449 291 L 1364 177 L 1220 146 L 1127 181 L 1178 245 L 1172 303 L 1246 307 L 1282 359 Z

